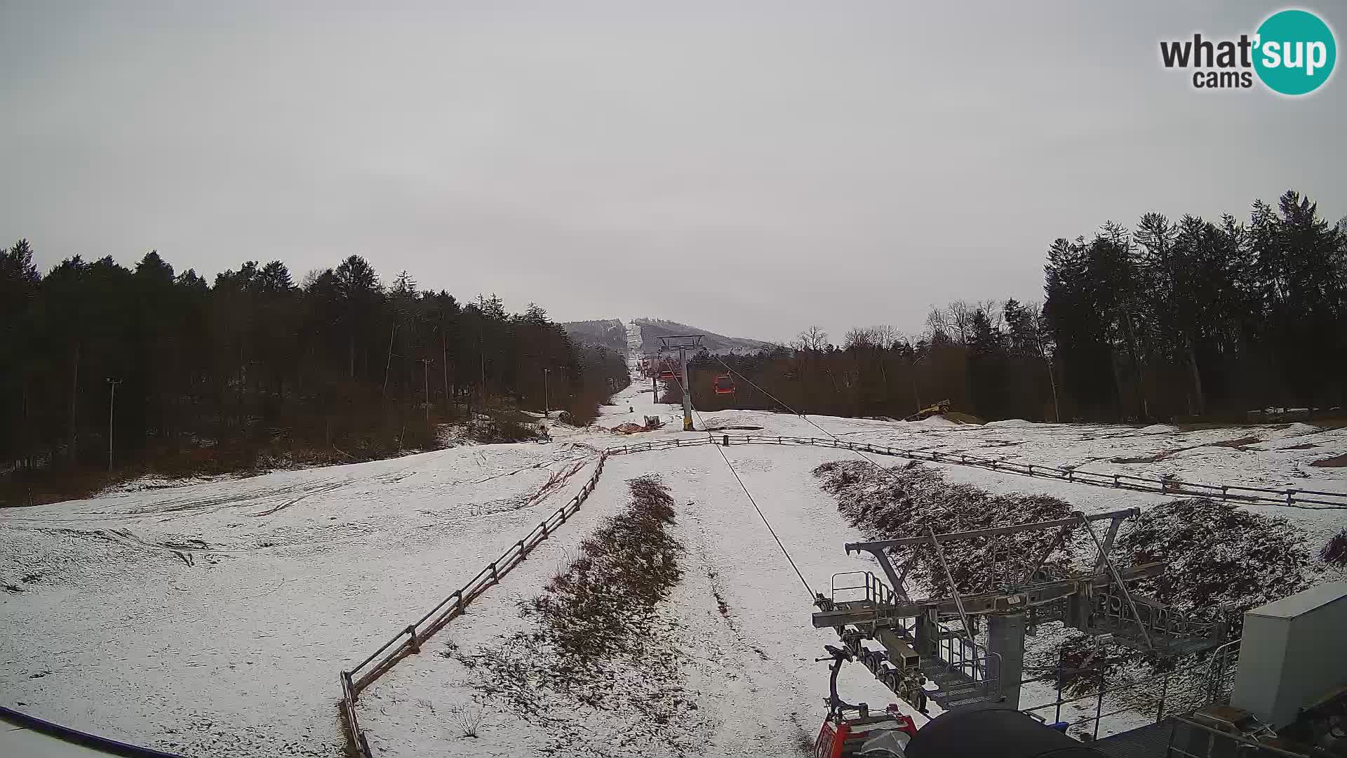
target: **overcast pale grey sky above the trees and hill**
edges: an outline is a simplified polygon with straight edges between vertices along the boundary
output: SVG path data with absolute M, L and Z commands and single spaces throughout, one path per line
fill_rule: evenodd
M 1041 299 L 1049 243 L 1109 218 L 1288 187 L 1347 212 L 1340 71 L 1293 100 L 1158 62 L 1281 7 L 4 0 L 0 241 L 915 332 L 931 303 Z M 1343 45 L 1347 7 L 1301 7 Z

